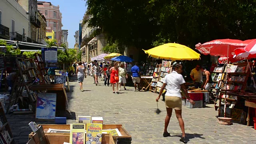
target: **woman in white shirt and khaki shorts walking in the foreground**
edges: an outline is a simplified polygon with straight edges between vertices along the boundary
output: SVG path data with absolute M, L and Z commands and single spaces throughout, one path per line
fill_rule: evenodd
M 170 133 L 167 132 L 168 124 L 170 122 L 170 118 L 172 116 L 172 109 L 175 110 L 176 117 L 178 119 L 178 122 L 180 124 L 180 128 L 182 131 L 182 138 L 180 138 L 181 142 L 186 143 L 185 139 L 185 130 L 184 130 L 184 122 L 182 119 L 182 104 L 181 104 L 181 94 L 180 89 L 184 94 L 186 94 L 186 98 L 189 100 L 190 103 L 195 104 L 193 100 L 190 99 L 188 92 L 186 90 L 185 86 L 185 80 L 182 77 L 182 65 L 174 62 L 172 64 L 173 71 L 170 74 L 167 74 L 164 78 L 164 82 L 162 85 L 162 88 L 159 92 L 158 97 L 156 98 L 156 102 L 160 99 L 164 88 L 166 88 L 166 94 L 165 94 L 165 106 L 166 106 L 166 118 L 164 121 L 164 137 L 170 136 Z

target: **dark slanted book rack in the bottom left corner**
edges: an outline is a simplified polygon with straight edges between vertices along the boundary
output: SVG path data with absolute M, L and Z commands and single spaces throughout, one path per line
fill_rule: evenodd
M 1 144 L 15 144 L 14 138 L 10 129 L 10 125 L 4 114 L 4 109 L 0 102 L 0 143 Z

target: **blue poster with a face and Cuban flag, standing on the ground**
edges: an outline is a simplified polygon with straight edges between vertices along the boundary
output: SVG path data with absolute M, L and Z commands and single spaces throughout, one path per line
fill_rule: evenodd
M 36 118 L 55 119 L 56 93 L 38 93 L 36 100 Z

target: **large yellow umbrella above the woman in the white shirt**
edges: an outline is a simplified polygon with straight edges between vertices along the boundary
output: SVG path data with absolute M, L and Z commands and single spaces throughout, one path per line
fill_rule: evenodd
M 146 54 L 153 58 L 167 59 L 167 60 L 199 60 L 200 54 L 191 48 L 176 44 L 168 43 L 149 50 L 144 50 Z

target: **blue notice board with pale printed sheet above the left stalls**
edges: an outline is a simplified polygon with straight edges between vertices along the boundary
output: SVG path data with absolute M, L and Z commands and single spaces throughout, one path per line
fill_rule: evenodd
M 58 68 L 57 48 L 44 48 L 44 63 L 46 68 Z

